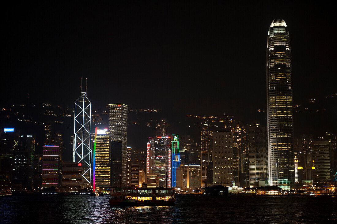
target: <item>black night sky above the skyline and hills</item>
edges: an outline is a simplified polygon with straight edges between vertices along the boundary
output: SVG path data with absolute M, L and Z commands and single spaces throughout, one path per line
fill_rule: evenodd
M 336 94 L 334 7 L 230 2 L 11 2 L 1 101 L 29 94 L 73 107 L 82 77 L 93 110 L 125 103 L 249 117 L 266 107 L 267 33 L 277 18 L 290 33 L 294 104 Z

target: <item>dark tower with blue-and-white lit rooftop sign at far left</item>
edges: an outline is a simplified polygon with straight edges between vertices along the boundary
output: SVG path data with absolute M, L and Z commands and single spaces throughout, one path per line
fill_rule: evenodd
M 14 128 L 4 128 L 0 133 L 0 190 L 10 190 L 12 187 L 13 152 L 18 151 L 20 133 Z

